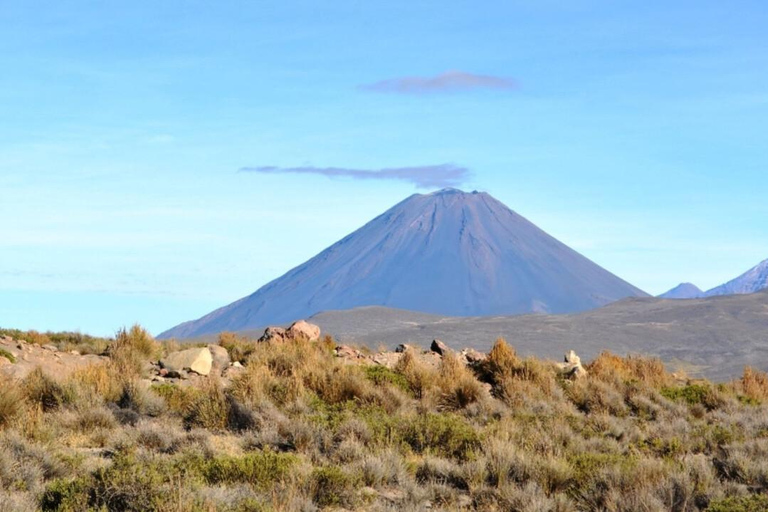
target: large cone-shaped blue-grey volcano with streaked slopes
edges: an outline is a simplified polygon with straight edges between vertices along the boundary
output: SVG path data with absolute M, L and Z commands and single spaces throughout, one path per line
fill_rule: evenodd
M 407 198 L 254 294 L 160 337 L 359 306 L 451 316 L 572 313 L 642 296 L 490 195 L 445 189 Z

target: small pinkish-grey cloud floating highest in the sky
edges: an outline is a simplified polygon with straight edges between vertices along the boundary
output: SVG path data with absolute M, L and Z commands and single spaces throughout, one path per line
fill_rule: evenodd
M 364 91 L 395 94 L 431 94 L 480 89 L 514 90 L 515 80 L 491 75 L 476 75 L 464 71 L 447 71 L 436 76 L 405 76 L 361 85 Z

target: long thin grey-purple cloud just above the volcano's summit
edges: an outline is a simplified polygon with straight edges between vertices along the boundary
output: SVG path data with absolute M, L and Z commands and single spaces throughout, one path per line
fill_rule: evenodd
M 394 167 L 391 169 L 347 169 L 344 167 L 243 167 L 240 172 L 262 174 L 319 174 L 329 178 L 357 180 L 397 180 L 413 183 L 418 188 L 457 187 L 471 176 L 469 169 L 453 164 Z

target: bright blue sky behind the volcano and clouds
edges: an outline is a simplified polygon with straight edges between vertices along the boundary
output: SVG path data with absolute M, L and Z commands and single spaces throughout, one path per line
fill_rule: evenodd
M 766 26 L 757 1 L 0 0 L 0 325 L 159 332 L 429 191 L 238 172 L 266 166 L 450 164 L 649 293 L 715 286 L 768 258 Z

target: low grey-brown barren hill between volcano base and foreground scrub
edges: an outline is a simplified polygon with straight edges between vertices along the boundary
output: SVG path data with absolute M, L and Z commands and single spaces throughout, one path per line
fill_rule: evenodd
M 768 292 L 693 299 L 625 299 L 576 315 L 442 317 L 386 308 L 329 311 L 312 317 L 344 343 L 369 347 L 425 344 L 487 351 L 504 337 L 524 355 L 555 358 L 567 350 L 648 354 L 715 380 L 745 365 L 768 370 Z

